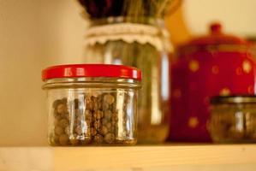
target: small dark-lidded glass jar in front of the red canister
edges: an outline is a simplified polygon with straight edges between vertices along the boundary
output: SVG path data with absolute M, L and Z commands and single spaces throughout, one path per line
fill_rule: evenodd
M 256 142 L 256 96 L 212 97 L 210 133 L 216 143 Z

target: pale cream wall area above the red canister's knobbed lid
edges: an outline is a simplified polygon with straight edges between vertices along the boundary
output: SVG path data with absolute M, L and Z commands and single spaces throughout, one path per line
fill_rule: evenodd
M 208 32 L 212 21 L 220 21 L 225 32 L 256 36 L 255 0 L 184 0 L 184 20 L 194 34 Z

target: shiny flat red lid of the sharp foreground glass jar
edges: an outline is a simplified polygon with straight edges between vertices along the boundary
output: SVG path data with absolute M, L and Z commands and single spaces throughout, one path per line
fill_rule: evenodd
M 141 71 L 123 65 L 110 64 L 74 64 L 59 65 L 45 68 L 42 71 L 42 80 L 75 77 L 112 77 L 141 80 Z

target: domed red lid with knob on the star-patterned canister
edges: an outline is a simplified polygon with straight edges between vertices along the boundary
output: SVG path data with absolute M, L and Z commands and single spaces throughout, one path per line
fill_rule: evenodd
M 212 23 L 210 34 L 199 38 L 194 38 L 188 45 L 211 45 L 211 44 L 245 44 L 247 41 L 233 35 L 223 33 L 220 23 Z

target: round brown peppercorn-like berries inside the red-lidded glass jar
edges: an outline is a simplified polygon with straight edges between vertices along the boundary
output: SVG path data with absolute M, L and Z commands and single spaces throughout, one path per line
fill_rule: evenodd
M 97 92 L 97 93 L 96 93 Z M 52 145 L 135 144 L 128 91 L 81 93 L 52 103 Z

